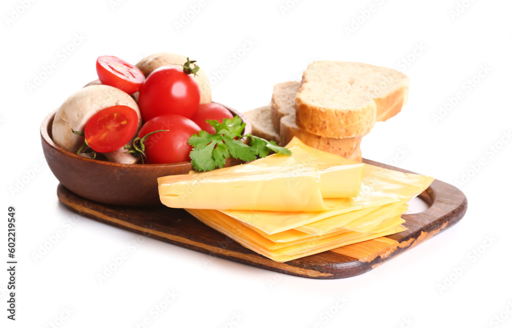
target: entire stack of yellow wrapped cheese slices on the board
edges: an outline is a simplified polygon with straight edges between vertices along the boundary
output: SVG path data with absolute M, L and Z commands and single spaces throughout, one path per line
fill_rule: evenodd
M 405 230 L 406 202 L 433 178 L 362 164 L 293 138 L 274 154 L 158 179 L 164 205 L 276 262 Z

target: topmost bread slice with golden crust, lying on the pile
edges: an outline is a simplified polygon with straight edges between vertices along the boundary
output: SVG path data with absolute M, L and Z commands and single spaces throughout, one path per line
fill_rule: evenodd
M 331 138 L 362 136 L 407 103 L 409 78 L 391 68 L 357 62 L 315 61 L 296 96 L 296 124 Z

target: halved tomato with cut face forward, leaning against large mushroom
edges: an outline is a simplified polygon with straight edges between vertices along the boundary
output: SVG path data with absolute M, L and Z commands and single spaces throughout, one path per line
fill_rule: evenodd
M 137 131 L 139 117 L 128 106 L 100 110 L 87 121 L 84 130 L 89 146 L 98 153 L 108 153 L 126 145 Z

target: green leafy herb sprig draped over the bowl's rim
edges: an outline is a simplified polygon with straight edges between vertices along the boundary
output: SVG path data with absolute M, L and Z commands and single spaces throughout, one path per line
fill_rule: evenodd
M 291 155 L 289 149 L 280 147 L 273 141 L 267 141 L 251 134 L 242 135 L 245 123 L 239 116 L 234 116 L 233 119 L 224 119 L 222 123 L 215 120 L 206 122 L 214 127 L 214 134 L 202 130 L 188 139 L 188 144 L 193 147 L 190 159 L 196 171 L 222 168 L 229 157 L 250 161 L 257 157 L 265 157 L 270 151 Z M 243 143 L 243 137 L 250 139 L 247 144 Z

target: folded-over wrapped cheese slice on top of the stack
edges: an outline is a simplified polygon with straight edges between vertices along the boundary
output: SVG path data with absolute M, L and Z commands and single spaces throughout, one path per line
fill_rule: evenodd
M 359 195 L 361 163 L 322 168 L 314 162 L 274 166 L 266 165 L 266 158 L 204 173 L 159 178 L 160 200 L 174 208 L 313 212 L 333 207 L 324 199 Z

